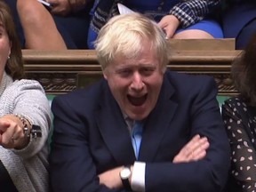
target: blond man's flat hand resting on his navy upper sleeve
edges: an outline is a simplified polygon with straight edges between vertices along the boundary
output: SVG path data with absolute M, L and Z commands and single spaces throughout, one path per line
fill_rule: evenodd
M 172 163 L 186 163 L 198 161 L 206 156 L 206 149 L 210 144 L 206 137 L 200 137 L 198 134 L 181 148 L 180 153 L 174 157 Z

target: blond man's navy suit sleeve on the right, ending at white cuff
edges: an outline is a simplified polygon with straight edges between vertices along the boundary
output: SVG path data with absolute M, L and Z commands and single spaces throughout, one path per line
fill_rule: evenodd
M 196 134 L 207 137 L 210 147 L 206 156 L 202 160 L 189 163 L 146 163 L 146 191 L 158 189 L 167 192 L 173 188 L 175 192 L 219 192 L 226 185 L 230 148 L 216 100 L 216 84 L 213 79 L 209 81 L 209 78 L 205 78 L 198 80 L 191 90 L 186 92 L 186 97 L 182 96 L 182 101 L 188 106 L 189 115 L 183 116 L 184 113 L 180 113 L 176 118 L 191 122 L 188 127 L 190 138 Z M 184 100 L 185 98 L 188 100 Z M 175 129 L 179 129 L 179 124 Z

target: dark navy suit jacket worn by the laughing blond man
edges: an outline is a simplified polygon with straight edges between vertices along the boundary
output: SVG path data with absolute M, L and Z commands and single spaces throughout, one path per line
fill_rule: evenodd
M 146 162 L 147 191 L 217 192 L 224 186 L 229 145 L 216 93 L 212 77 L 165 73 L 140 145 L 139 161 Z M 107 81 L 57 97 L 52 112 L 53 190 L 121 191 L 100 186 L 97 177 L 136 160 L 128 128 Z M 173 157 L 196 133 L 210 141 L 204 160 L 172 164 Z

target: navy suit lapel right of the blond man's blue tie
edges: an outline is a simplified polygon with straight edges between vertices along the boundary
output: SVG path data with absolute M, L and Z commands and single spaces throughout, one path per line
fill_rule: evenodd
M 166 78 L 164 79 L 156 108 L 150 113 L 144 125 L 139 154 L 139 160 L 143 162 L 154 160 L 165 132 L 172 128 L 170 124 L 178 107 L 177 102 L 172 100 L 174 88 Z

